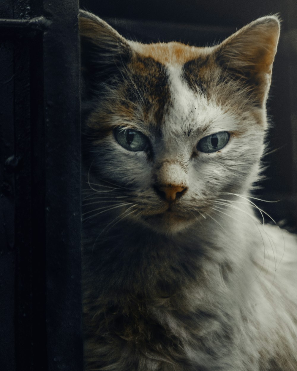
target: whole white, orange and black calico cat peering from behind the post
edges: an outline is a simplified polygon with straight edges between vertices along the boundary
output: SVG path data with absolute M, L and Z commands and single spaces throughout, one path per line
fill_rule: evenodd
M 79 25 L 85 371 L 296 371 L 297 239 L 251 197 L 278 17 L 211 47 Z

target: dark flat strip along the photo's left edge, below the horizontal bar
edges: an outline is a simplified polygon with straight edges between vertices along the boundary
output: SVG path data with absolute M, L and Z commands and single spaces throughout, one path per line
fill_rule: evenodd
M 0 370 L 15 371 L 13 43 L 0 40 Z

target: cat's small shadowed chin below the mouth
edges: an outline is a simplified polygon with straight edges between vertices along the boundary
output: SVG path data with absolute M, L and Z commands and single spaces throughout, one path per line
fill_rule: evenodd
M 181 215 L 172 211 L 141 217 L 141 222 L 147 227 L 157 233 L 165 234 L 175 234 L 187 230 L 195 220 L 193 216 Z

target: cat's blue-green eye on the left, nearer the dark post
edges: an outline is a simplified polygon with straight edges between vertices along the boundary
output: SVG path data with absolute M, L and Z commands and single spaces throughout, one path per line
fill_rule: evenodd
M 148 138 L 140 131 L 134 129 L 116 128 L 114 129 L 114 136 L 118 144 L 128 151 L 145 151 L 149 145 Z

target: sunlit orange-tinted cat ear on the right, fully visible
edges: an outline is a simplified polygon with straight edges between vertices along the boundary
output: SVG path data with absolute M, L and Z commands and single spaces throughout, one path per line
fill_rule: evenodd
M 248 85 L 260 106 L 267 99 L 279 35 L 278 17 L 267 16 L 247 24 L 216 47 L 219 64 Z

